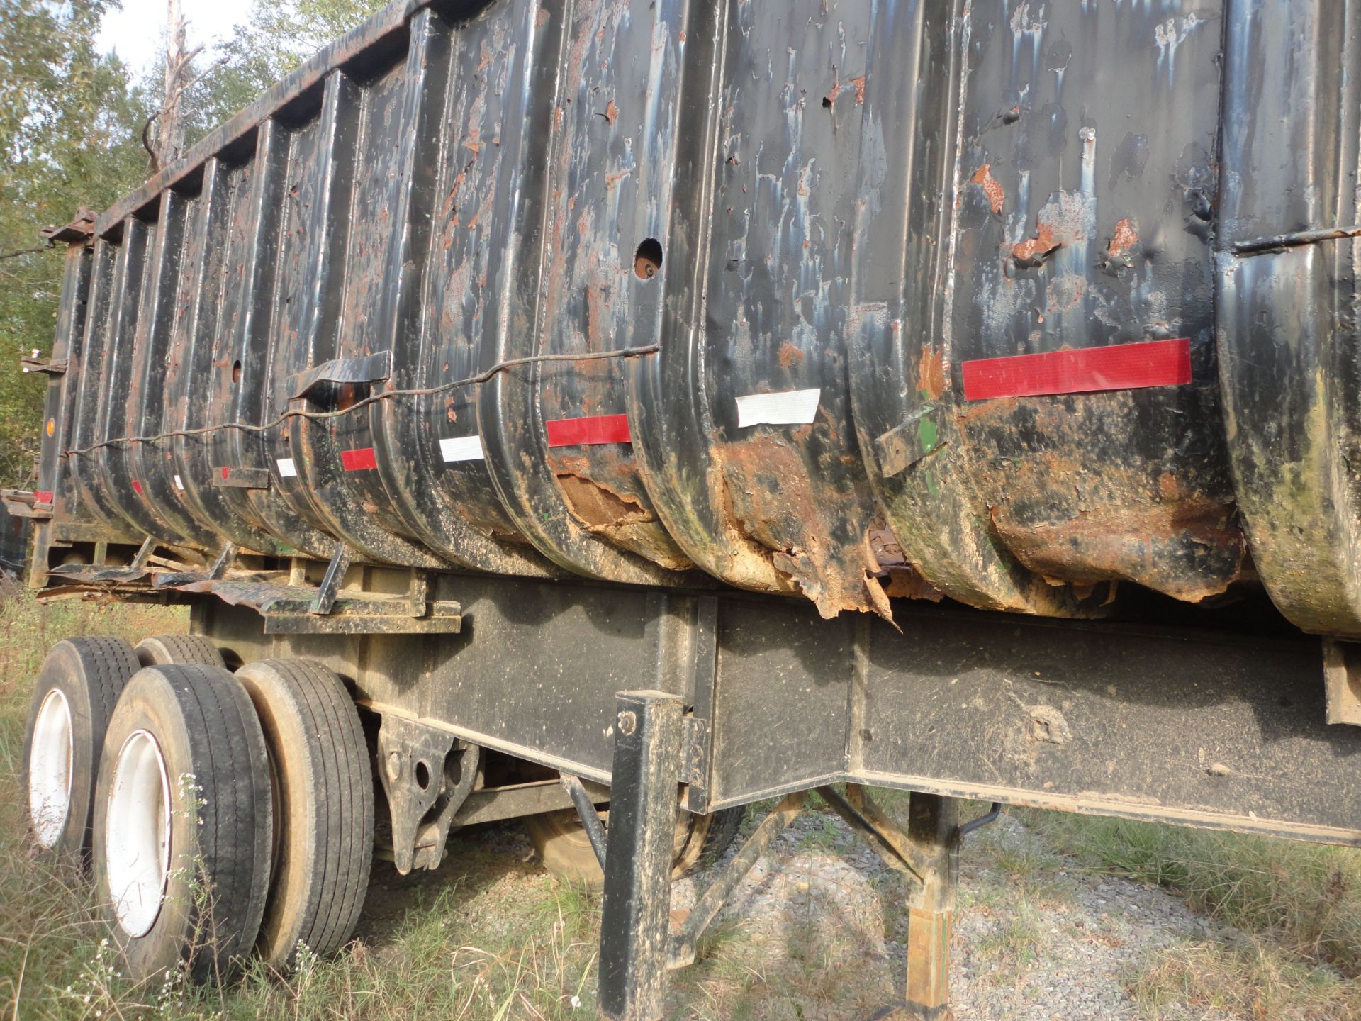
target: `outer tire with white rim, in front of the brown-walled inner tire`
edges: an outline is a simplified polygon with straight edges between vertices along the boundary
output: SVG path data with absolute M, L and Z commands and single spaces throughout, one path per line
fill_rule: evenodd
M 269 885 L 264 734 L 226 670 L 139 671 L 109 722 L 95 792 L 94 869 L 136 980 L 203 982 L 250 953 Z

